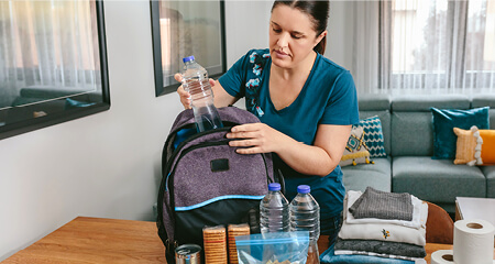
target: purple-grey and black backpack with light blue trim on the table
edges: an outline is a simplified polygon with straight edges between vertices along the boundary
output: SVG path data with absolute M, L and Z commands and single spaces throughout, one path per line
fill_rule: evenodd
M 202 248 L 206 226 L 249 222 L 258 229 L 260 201 L 268 184 L 275 177 L 283 182 L 271 153 L 238 154 L 228 144 L 232 127 L 260 120 L 235 107 L 218 111 L 223 128 L 197 133 L 193 110 L 184 110 L 163 147 L 156 224 L 167 263 L 175 263 L 175 249 L 182 244 Z

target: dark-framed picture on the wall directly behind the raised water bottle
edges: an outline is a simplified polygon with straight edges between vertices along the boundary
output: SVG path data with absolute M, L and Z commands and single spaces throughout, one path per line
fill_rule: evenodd
M 151 0 L 153 57 L 156 97 L 174 92 L 180 84 L 183 58 L 195 56 L 210 78 L 226 73 L 223 0 Z

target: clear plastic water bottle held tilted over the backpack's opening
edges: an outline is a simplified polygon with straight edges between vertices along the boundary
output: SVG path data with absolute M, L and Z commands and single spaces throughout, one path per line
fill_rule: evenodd
M 195 61 L 195 56 L 183 58 L 183 87 L 190 94 L 198 132 L 223 128 L 222 120 L 213 105 L 208 72 Z

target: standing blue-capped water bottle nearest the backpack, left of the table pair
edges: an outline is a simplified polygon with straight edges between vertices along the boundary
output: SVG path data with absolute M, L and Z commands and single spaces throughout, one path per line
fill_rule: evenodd
M 280 193 L 280 184 L 268 185 L 268 194 L 260 202 L 260 229 L 262 233 L 288 232 L 288 200 Z

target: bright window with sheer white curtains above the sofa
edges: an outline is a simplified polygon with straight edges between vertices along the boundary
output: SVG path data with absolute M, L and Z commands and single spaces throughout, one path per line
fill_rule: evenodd
M 494 1 L 394 0 L 389 8 L 392 65 L 384 87 L 495 90 Z

